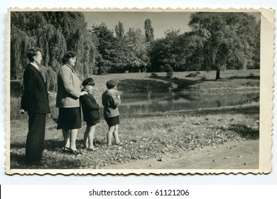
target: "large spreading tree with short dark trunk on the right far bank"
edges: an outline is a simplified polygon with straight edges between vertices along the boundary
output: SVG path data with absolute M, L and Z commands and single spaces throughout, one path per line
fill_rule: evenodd
M 199 12 L 190 16 L 189 26 L 202 38 L 202 69 L 216 70 L 216 80 L 221 70 L 246 68 L 255 56 L 259 25 L 254 16 Z

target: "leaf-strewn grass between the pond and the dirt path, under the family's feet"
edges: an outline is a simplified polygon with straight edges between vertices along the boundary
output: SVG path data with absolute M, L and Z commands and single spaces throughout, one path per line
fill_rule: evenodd
M 207 119 L 208 118 L 208 119 Z M 235 120 L 232 118 L 236 118 Z M 12 125 L 11 132 L 11 168 L 47 168 L 47 169 L 95 169 L 145 158 L 156 158 L 163 162 L 166 154 L 178 154 L 180 151 L 202 149 L 239 139 L 252 139 L 259 136 L 255 125 L 259 114 L 245 117 L 244 114 L 197 114 L 194 116 L 174 114 L 164 117 L 130 117 L 121 118 L 119 136 L 123 146 L 106 146 L 106 125 L 97 124 L 94 144 L 97 151 L 82 151 L 81 156 L 63 154 L 63 137 L 61 131 L 53 128 L 55 124 L 48 121 L 44 156 L 48 162 L 44 166 L 28 166 L 23 161 L 25 153 L 26 126 L 18 129 Z M 13 121 L 12 121 L 13 122 Z M 16 121 L 14 122 L 16 124 Z M 22 126 L 22 125 L 21 125 Z M 77 145 L 82 146 L 80 129 Z M 232 149 L 232 147 L 230 147 Z M 228 158 L 228 157 L 225 157 Z M 214 160 L 214 162 L 216 162 Z M 151 166 L 151 165 L 149 165 Z

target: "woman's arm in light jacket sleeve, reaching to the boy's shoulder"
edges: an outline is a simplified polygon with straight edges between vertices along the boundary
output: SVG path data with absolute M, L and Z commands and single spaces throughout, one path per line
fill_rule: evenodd
M 75 90 L 72 82 L 72 71 L 70 68 L 62 68 L 60 70 L 60 77 L 63 81 L 65 90 L 71 95 L 73 99 L 78 99 L 81 95 L 80 90 Z

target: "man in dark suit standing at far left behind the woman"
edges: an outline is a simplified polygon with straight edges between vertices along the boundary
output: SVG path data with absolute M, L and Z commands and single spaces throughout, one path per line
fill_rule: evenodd
M 42 165 L 46 114 L 50 113 L 48 92 L 40 73 L 41 52 L 31 48 L 28 53 L 30 63 L 23 74 L 24 92 L 21 98 L 21 114 L 28 112 L 28 135 L 26 139 L 25 160 L 33 165 Z

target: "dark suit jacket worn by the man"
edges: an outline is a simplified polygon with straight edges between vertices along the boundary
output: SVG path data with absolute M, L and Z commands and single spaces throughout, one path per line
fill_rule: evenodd
M 23 74 L 24 92 L 21 109 L 33 113 L 50 113 L 48 92 L 40 72 L 29 63 Z

